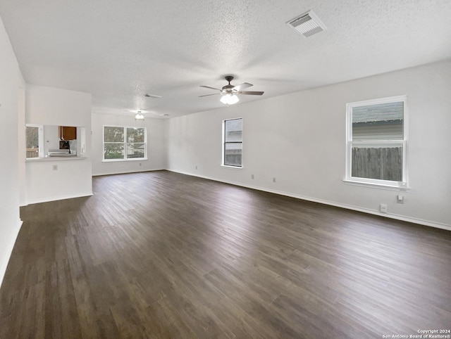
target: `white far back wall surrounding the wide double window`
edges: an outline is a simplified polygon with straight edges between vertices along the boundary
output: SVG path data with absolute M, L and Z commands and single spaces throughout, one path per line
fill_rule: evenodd
M 147 127 L 147 160 L 102 162 L 103 127 Z M 144 122 L 130 116 L 92 114 L 92 174 L 116 174 L 166 169 L 166 120 L 145 117 Z M 141 164 L 141 165 L 140 165 Z

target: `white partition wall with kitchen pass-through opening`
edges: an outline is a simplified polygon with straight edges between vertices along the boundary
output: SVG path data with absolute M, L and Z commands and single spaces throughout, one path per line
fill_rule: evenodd
M 78 126 L 91 130 L 91 94 L 27 84 L 25 102 L 27 124 Z M 56 136 L 57 133 L 56 130 Z M 90 133 L 86 133 L 85 145 L 80 147 L 83 146 L 87 158 L 82 160 L 51 158 L 25 163 L 27 203 L 92 195 Z

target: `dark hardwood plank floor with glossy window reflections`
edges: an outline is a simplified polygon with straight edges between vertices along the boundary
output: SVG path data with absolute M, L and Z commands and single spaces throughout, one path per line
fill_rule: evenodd
M 451 328 L 451 232 L 166 171 L 21 208 L 0 338 Z

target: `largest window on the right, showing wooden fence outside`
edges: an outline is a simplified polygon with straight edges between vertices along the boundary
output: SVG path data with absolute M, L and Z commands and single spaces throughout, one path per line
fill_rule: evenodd
M 346 180 L 406 187 L 406 97 L 347 104 Z

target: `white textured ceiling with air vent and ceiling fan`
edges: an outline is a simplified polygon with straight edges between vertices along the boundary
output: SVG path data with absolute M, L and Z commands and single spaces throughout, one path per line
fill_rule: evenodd
M 309 38 L 285 23 L 313 10 Z M 450 0 L 0 0 L 25 81 L 92 94 L 93 112 L 223 107 L 451 58 Z M 144 94 L 163 98 L 145 98 Z M 128 113 L 130 114 L 130 113 Z

